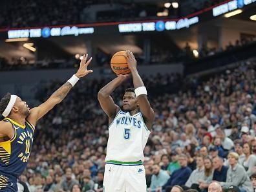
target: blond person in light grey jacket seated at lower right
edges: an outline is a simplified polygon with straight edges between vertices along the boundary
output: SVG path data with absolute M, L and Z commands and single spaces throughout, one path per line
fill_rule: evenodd
M 229 186 L 238 186 L 241 192 L 253 192 L 250 178 L 244 167 L 238 164 L 239 155 L 235 152 L 228 154 L 229 168 L 226 182 L 220 182 L 220 186 L 228 189 Z

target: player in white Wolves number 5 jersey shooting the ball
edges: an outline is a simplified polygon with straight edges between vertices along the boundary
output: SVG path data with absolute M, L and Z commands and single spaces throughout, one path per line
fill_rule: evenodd
M 119 75 L 98 92 L 100 105 L 109 116 L 104 192 L 147 191 L 143 151 L 155 113 L 147 100 L 147 90 L 138 74 L 136 59 L 131 51 L 126 53 L 134 89 L 125 91 L 123 109 L 114 103 L 110 95 L 129 75 Z

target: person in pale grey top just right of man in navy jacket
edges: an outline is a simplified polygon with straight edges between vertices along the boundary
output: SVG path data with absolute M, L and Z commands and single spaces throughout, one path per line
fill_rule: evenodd
M 204 156 L 197 155 L 197 169 L 195 169 L 189 179 L 187 180 L 185 186 L 191 187 L 193 189 L 198 189 L 199 182 L 204 180 Z

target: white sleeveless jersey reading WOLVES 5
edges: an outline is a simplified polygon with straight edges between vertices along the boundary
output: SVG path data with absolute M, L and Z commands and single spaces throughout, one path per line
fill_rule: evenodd
M 143 151 L 149 134 L 140 112 L 131 116 L 129 112 L 119 111 L 109 125 L 106 161 L 144 161 Z

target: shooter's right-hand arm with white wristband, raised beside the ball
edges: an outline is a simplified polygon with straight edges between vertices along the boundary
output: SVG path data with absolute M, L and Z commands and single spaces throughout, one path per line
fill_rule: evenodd
M 127 50 L 126 54 L 127 64 L 133 76 L 133 86 L 135 89 L 135 94 L 138 98 L 140 112 L 142 112 L 142 115 L 145 118 L 147 127 L 151 129 L 151 126 L 155 120 L 155 112 L 151 108 L 149 100 L 147 100 L 147 91 L 145 89 L 142 78 L 140 78 L 140 74 L 138 74 L 137 62 L 134 58 L 133 52 Z

